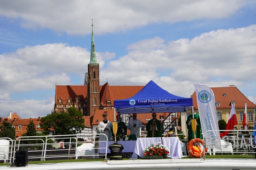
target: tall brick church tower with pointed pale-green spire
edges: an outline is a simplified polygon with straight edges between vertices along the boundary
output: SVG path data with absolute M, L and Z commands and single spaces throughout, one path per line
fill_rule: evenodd
M 96 60 L 93 24 L 91 24 L 91 57 L 88 64 L 88 80 L 87 80 L 87 113 L 88 116 L 94 115 L 94 110 L 100 107 L 100 73 L 99 64 Z

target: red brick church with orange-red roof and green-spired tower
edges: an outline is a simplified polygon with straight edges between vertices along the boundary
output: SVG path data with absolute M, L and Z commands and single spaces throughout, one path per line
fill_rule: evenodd
M 74 106 L 83 113 L 87 125 L 95 126 L 95 131 L 98 123 L 102 121 L 103 113 L 107 112 L 109 120 L 114 121 L 114 100 L 130 98 L 144 87 L 110 86 L 108 82 L 100 85 L 99 72 L 92 27 L 90 63 L 88 72 L 85 73 L 84 85 L 55 85 L 55 105 L 52 113 L 66 112 L 69 107 Z M 152 118 L 148 114 L 141 114 L 140 117 L 143 120 L 144 117 Z

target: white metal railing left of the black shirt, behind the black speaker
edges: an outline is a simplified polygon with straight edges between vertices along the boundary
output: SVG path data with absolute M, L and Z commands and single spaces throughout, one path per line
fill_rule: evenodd
M 99 148 L 98 138 L 100 135 L 104 135 L 106 140 L 108 137 L 105 134 L 88 134 L 86 141 L 79 141 L 81 135 L 55 135 L 55 136 L 26 136 L 18 137 L 15 140 L 10 138 L 0 138 L 10 141 L 9 156 L 6 159 L 10 166 L 15 165 L 16 152 L 19 150 L 28 150 L 28 160 L 29 161 L 39 161 L 39 160 L 61 160 L 61 159 L 75 159 L 77 156 L 85 156 L 86 159 L 92 159 L 95 156 L 97 158 L 104 158 L 106 161 L 107 149 L 106 147 Z M 82 154 L 81 149 L 80 155 L 77 155 L 77 149 L 79 146 L 91 143 L 93 148 L 83 147 L 83 153 L 88 150 L 93 150 L 91 154 Z M 108 141 L 106 141 L 106 146 L 108 146 Z M 99 153 L 99 149 L 105 149 L 105 153 Z

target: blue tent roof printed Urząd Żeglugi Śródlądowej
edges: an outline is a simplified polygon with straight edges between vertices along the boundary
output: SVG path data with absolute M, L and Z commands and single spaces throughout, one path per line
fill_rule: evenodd
M 172 95 L 152 80 L 133 97 L 114 100 L 118 114 L 186 112 L 192 106 L 192 98 Z

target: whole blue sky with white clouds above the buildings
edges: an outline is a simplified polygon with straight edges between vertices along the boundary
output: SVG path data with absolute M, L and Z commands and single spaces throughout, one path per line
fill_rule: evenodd
M 255 104 L 254 0 L 1 0 L 0 117 L 46 116 L 55 83 L 83 85 L 92 19 L 100 85 L 235 85 Z

